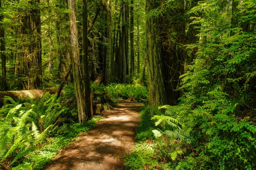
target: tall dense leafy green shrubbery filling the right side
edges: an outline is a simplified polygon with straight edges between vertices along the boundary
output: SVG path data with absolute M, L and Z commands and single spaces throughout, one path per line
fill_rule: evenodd
M 234 9 L 237 24 L 231 25 L 232 2 L 209 0 L 191 10 L 204 15 L 194 21 L 201 24 L 201 40 L 174 108 L 192 148 L 176 169 L 256 168 L 256 32 L 250 26 L 256 11 L 253 1 L 240 1 Z

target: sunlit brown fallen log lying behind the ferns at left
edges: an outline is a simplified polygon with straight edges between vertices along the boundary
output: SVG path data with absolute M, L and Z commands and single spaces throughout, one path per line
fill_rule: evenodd
M 0 107 L 3 106 L 3 98 L 4 96 L 10 96 L 14 100 L 22 99 L 26 100 L 28 98 L 36 99 L 41 98 L 45 93 L 49 92 L 49 94 L 56 94 L 58 89 L 49 88 L 49 89 L 35 89 L 35 90 L 23 90 L 23 91 L 0 91 Z

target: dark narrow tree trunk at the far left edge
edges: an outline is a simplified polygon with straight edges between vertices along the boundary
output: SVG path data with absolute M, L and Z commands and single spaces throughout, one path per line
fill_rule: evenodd
M 1 65 L 2 65 L 2 91 L 7 90 L 6 85 L 6 55 L 5 55 L 5 40 L 4 40 L 4 28 L 3 24 L 3 13 L 2 13 L 2 0 L 0 0 L 0 54 L 1 54 Z

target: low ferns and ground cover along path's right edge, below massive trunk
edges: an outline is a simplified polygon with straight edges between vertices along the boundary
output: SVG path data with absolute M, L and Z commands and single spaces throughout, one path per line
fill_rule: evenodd
M 131 169 L 168 170 L 170 167 L 166 161 L 175 161 L 186 153 L 191 143 L 188 131 L 183 130 L 178 119 L 168 114 L 172 108 L 169 105 L 159 109 L 152 106 L 143 108 L 136 136 L 140 142 L 134 146 L 131 154 L 125 156 L 125 166 Z M 156 115 L 151 115 L 149 109 Z

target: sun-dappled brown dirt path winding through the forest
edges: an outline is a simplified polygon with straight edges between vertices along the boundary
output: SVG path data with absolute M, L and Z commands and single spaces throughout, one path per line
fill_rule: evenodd
M 45 170 L 123 170 L 122 157 L 134 145 L 140 105 L 118 100 L 93 130 L 70 144 Z

